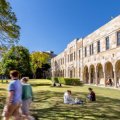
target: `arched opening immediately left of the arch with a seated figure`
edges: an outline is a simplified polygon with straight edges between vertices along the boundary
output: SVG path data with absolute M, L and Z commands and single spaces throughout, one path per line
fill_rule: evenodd
M 103 73 L 103 66 L 101 63 L 97 64 L 97 83 L 98 84 L 103 84 L 104 85 L 104 73 Z

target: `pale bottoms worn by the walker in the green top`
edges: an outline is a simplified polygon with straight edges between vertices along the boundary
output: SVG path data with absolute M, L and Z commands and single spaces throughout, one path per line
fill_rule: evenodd
M 29 108 L 30 108 L 31 102 L 32 102 L 31 98 L 22 101 L 22 114 L 29 115 L 30 113 Z

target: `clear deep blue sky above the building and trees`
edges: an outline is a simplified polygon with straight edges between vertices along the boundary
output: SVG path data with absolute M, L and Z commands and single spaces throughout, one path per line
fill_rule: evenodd
M 21 27 L 20 45 L 62 52 L 120 14 L 120 0 L 8 0 Z

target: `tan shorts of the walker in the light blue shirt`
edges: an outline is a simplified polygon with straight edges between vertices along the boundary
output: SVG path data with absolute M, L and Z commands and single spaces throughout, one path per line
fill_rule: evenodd
M 21 103 L 7 104 L 3 109 L 2 116 L 3 117 L 20 116 L 20 112 L 19 112 L 20 107 L 21 107 Z

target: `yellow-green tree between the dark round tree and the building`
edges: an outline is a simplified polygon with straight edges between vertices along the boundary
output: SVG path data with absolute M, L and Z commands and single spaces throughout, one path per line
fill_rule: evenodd
M 44 52 L 33 52 L 31 54 L 31 66 L 34 78 L 36 78 L 37 69 L 42 68 L 43 64 L 48 63 L 49 58 L 50 55 Z

